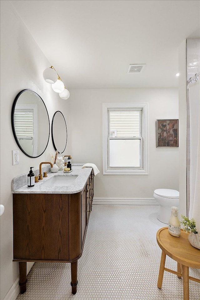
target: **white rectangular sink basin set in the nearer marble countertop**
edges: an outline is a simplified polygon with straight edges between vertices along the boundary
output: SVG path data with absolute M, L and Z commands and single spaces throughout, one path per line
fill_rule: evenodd
M 57 186 L 68 186 L 71 185 L 78 175 L 55 175 L 47 181 L 42 182 L 42 186 L 45 187 L 57 187 Z

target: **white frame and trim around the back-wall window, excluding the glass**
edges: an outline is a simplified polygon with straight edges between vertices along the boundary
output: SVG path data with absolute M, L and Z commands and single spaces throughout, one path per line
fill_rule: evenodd
M 103 103 L 103 175 L 148 175 L 148 132 L 147 132 L 147 103 Z M 109 167 L 109 111 L 130 109 L 141 110 L 142 139 L 141 139 L 141 167 Z M 138 138 L 137 138 L 138 139 Z

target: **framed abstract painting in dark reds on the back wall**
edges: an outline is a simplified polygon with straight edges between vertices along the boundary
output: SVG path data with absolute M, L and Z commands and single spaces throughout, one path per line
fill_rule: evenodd
M 178 147 L 178 119 L 156 120 L 156 147 Z

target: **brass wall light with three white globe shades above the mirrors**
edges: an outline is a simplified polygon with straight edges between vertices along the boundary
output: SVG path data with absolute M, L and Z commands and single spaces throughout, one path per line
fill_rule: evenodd
M 67 100 L 69 98 L 70 93 L 68 89 L 65 88 L 64 83 L 53 66 L 44 70 L 43 78 L 47 83 L 52 84 L 54 92 L 59 93 L 61 99 Z

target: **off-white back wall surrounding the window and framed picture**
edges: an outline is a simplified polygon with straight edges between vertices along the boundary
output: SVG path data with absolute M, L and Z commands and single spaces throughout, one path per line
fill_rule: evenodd
M 149 175 L 103 175 L 104 102 L 148 103 Z M 94 181 L 95 198 L 153 199 L 156 188 L 179 189 L 179 149 L 156 148 L 156 119 L 178 119 L 178 89 L 70 90 L 68 103 L 72 162 L 95 163 L 100 170 Z

